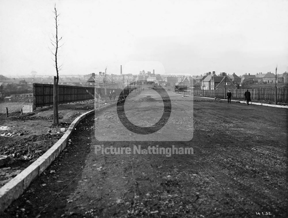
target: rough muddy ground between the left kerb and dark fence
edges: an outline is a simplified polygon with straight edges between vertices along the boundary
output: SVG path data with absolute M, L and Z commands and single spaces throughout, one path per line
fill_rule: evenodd
M 59 127 L 52 126 L 53 107 L 0 119 L 0 155 L 14 154 L 13 162 L 0 167 L 0 187 L 57 142 L 64 134 L 61 128 L 67 130 L 76 117 L 92 109 L 94 101 L 59 105 Z

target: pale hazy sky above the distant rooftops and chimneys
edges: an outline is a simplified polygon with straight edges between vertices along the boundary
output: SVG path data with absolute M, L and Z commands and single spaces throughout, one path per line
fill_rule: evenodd
M 0 0 L 0 74 L 288 71 L 287 0 Z

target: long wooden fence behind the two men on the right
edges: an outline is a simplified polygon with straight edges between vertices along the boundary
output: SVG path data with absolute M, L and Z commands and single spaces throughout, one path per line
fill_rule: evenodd
M 244 93 L 247 89 L 230 89 L 232 93 L 232 99 L 244 99 Z M 203 97 L 217 97 L 224 98 L 228 89 L 215 89 L 215 90 L 188 90 L 186 94 L 192 93 L 192 95 Z M 251 99 L 254 100 L 267 100 L 275 101 L 275 88 L 251 88 Z M 288 103 L 288 88 L 277 88 L 277 102 Z

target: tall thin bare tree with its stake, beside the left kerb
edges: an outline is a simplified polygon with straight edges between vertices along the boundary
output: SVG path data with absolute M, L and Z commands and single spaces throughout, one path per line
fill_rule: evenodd
M 55 28 L 56 28 L 56 34 L 54 35 L 54 34 L 52 34 L 53 35 L 53 38 L 52 39 L 50 39 L 50 41 L 51 41 L 51 44 L 52 44 L 52 46 L 53 46 L 53 51 L 50 49 L 50 51 L 51 51 L 51 53 L 53 54 L 53 56 L 54 56 L 54 59 L 53 59 L 53 61 L 55 62 L 55 65 L 54 65 L 54 67 L 56 68 L 56 84 L 54 83 L 54 89 L 55 89 L 55 91 L 54 91 L 54 96 L 53 96 L 53 111 L 54 111 L 54 113 L 53 113 L 53 126 L 59 126 L 59 120 L 58 120 L 58 82 L 59 82 L 59 71 L 61 70 L 61 66 L 59 66 L 58 67 L 58 63 L 57 63 L 57 55 L 58 55 L 58 49 L 60 48 L 60 47 L 62 47 L 62 45 L 60 45 L 59 46 L 59 42 L 60 42 L 60 40 L 62 39 L 62 37 L 60 38 L 60 39 L 58 39 L 58 26 L 59 26 L 59 24 L 58 24 L 58 22 L 59 22 L 59 20 L 58 20 L 58 17 L 59 17 L 59 15 L 60 14 L 58 14 L 57 13 L 57 10 L 56 10 L 56 4 L 54 5 L 54 11 L 53 11 L 53 13 L 54 13 L 54 19 L 55 19 Z M 55 93 L 56 92 L 56 93 Z

